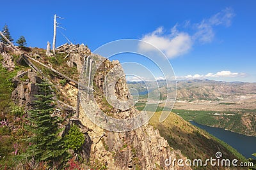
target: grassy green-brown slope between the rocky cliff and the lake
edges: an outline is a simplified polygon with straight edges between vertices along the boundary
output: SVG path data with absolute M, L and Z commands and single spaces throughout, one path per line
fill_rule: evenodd
M 171 113 L 164 122 L 159 123 L 161 112 L 156 112 L 150 119 L 150 124 L 159 129 L 159 133 L 167 139 L 170 146 L 179 149 L 189 159 L 205 160 L 214 157 L 216 152 L 223 153 L 225 159 L 246 159 L 234 148 L 223 141 L 214 138 L 209 133 L 186 122 L 175 113 Z M 195 169 L 220 169 L 220 167 L 195 167 Z

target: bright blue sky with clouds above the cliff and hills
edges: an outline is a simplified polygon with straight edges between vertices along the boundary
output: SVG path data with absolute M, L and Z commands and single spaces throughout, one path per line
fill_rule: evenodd
M 58 29 L 57 46 L 67 42 L 61 32 L 92 51 L 117 39 L 142 39 L 163 50 L 179 79 L 256 82 L 255 7 L 253 0 L 3 1 L 0 27 L 45 48 L 56 13 L 66 29 Z

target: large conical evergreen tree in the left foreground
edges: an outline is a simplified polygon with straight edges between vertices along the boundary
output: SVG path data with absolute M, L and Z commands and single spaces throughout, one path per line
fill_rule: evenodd
M 48 83 L 38 84 L 42 94 L 36 95 L 35 109 L 29 111 L 30 129 L 33 136 L 28 139 L 31 146 L 26 156 L 34 157 L 36 162 L 45 161 L 49 166 L 63 166 L 69 154 L 65 148 L 63 138 L 59 136 L 60 119 L 52 115 L 55 104 L 52 100 Z

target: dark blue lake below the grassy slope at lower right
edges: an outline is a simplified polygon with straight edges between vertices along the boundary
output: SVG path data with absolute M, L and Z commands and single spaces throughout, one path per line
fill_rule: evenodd
M 244 136 L 243 134 L 237 134 L 235 132 L 226 131 L 218 127 L 209 127 L 206 125 L 196 124 L 196 122 L 190 121 L 191 124 L 200 127 L 209 132 L 216 138 L 225 141 L 228 145 L 235 148 L 239 153 L 244 155 L 246 159 L 253 158 L 252 153 L 256 153 L 256 137 L 253 136 Z

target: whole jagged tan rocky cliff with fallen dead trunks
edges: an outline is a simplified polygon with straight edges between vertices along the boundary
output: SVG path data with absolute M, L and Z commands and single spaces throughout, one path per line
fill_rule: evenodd
M 37 52 L 33 51 L 27 53 L 28 57 L 38 60 L 39 62 L 44 62 L 45 66 L 54 69 L 61 69 L 70 67 L 76 72 L 69 77 L 76 79 L 83 68 L 83 64 L 86 62 L 87 57 L 90 55 L 92 60 L 95 60 L 96 64 L 100 59 L 104 59 L 99 55 L 92 54 L 90 50 L 84 45 L 63 45 L 57 49 L 57 60 L 61 60 L 62 63 L 56 64 L 56 59 L 54 57 L 47 57 L 42 53 L 42 50 Z M 36 53 L 36 55 L 35 55 Z M 61 57 L 61 58 L 60 58 Z M 54 60 L 54 62 L 51 62 Z M 36 64 L 33 60 L 31 60 Z M 38 62 L 38 63 L 39 63 Z M 42 64 L 36 64 L 39 70 L 43 72 L 47 69 Z M 54 63 L 56 65 L 54 65 Z M 61 66 L 60 66 L 61 65 Z M 159 131 L 154 129 L 152 125 L 143 125 L 138 127 L 133 131 L 126 132 L 113 132 L 107 131 L 95 125 L 86 111 L 93 110 L 93 108 L 100 108 L 102 111 L 106 111 L 106 114 L 113 118 L 127 119 L 138 115 L 139 111 L 132 106 L 127 110 L 116 109 L 113 106 L 109 106 L 104 97 L 104 77 L 106 74 L 111 73 L 111 71 L 118 70 L 122 71 L 122 66 L 118 61 L 105 60 L 102 66 L 99 67 L 95 76 L 93 78 L 92 88 L 95 90 L 93 96 L 95 97 L 95 102 L 86 101 L 87 108 L 80 106 L 79 108 L 79 120 L 76 117 L 67 118 L 70 124 L 80 124 L 81 131 L 83 131 L 84 136 L 86 136 L 86 141 L 84 142 L 83 153 L 84 158 L 88 161 L 87 167 L 99 167 L 104 166 L 108 169 L 190 169 L 189 167 L 167 167 L 164 166 L 164 160 L 172 157 L 172 159 L 186 159 L 180 150 L 173 150 L 171 146 L 168 145 L 167 141 L 161 137 Z M 59 70 L 60 71 L 60 70 Z M 44 72 L 45 73 L 45 72 Z M 47 72 L 49 73 L 49 72 Z M 60 83 L 63 80 L 63 76 L 60 74 L 45 74 L 42 75 L 28 69 L 26 73 L 19 73 L 21 76 L 13 78 L 15 82 L 15 90 L 13 91 L 13 100 L 20 106 L 32 106 L 33 95 L 38 94 L 38 89 L 36 83 L 38 83 L 41 78 L 47 78 L 51 83 L 54 84 L 54 89 L 58 100 L 63 104 L 63 106 L 70 106 L 77 108 L 77 80 L 72 78 L 67 80 L 67 83 Z M 67 76 L 67 77 L 68 77 Z M 120 78 L 116 81 L 115 88 L 113 90 L 115 96 L 120 101 L 129 101 L 132 99 L 131 94 L 129 94 L 129 89 L 127 87 L 125 77 Z M 81 102 L 81 105 L 83 102 Z M 62 110 L 62 116 L 66 115 Z

